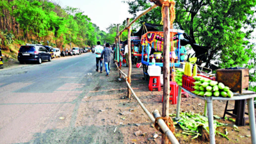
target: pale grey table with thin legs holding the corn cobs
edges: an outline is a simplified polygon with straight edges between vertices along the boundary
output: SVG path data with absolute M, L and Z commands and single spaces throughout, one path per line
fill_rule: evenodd
M 181 98 L 181 90 L 184 90 L 189 95 L 192 95 L 194 97 L 198 97 L 199 99 L 204 99 L 207 102 L 207 111 L 208 111 L 208 123 L 209 123 L 209 132 L 210 132 L 210 143 L 215 143 L 215 129 L 213 127 L 213 111 L 212 111 L 212 101 L 213 100 L 243 100 L 246 99 L 248 102 L 248 113 L 249 113 L 249 122 L 250 122 L 250 131 L 251 131 L 251 140 L 253 144 L 256 144 L 256 132 L 255 132 L 255 112 L 254 112 L 254 104 L 253 104 L 253 98 L 256 97 L 255 92 L 251 92 L 248 90 L 244 90 L 241 93 L 234 93 L 234 97 L 201 97 L 198 95 L 195 95 L 194 93 L 191 93 L 190 91 L 186 90 L 185 88 L 182 88 L 182 86 L 179 86 L 179 92 L 178 92 L 178 102 L 177 102 L 177 111 L 176 111 L 176 118 L 175 120 L 180 119 L 180 98 Z

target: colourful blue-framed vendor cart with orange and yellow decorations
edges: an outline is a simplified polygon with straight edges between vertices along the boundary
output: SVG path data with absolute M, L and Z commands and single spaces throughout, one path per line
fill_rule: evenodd
M 179 67 L 180 66 L 180 49 L 178 51 L 178 56 L 175 56 L 174 47 L 180 47 L 180 35 L 184 31 L 180 29 L 171 29 L 171 46 L 170 46 L 170 58 L 174 58 L 174 63 L 170 63 L 170 67 Z M 141 63 L 143 65 L 143 74 L 145 79 L 148 81 L 148 66 L 152 65 L 152 59 L 150 58 L 150 44 L 154 47 L 155 51 L 159 51 L 154 54 L 156 59 L 156 65 L 163 67 L 163 60 L 161 59 L 161 52 L 163 52 L 163 31 L 148 31 L 143 36 L 141 36 L 141 45 L 142 45 L 142 54 L 141 54 Z M 145 52 L 144 52 L 145 49 Z M 145 54 L 146 55 L 145 55 Z

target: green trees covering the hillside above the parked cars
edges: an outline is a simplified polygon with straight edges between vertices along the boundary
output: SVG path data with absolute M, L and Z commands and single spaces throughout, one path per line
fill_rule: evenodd
M 2 0 L 0 29 L 13 33 L 19 40 L 44 44 L 49 41 L 58 47 L 70 42 L 79 47 L 96 45 L 97 41 L 103 44 L 115 35 L 100 31 L 78 8 L 61 8 L 47 0 Z

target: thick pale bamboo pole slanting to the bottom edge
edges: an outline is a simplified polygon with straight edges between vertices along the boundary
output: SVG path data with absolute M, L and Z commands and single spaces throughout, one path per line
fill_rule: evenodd
M 153 115 L 154 115 L 154 118 L 161 117 L 159 114 L 159 111 L 157 111 L 157 109 L 153 112 Z M 163 119 L 161 119 L 161 118 L 158 119 L 157 124 L 161 127 L 162 131 L 164 132 L 164 134 L 167 136 L 168 140 L 170 140 L 170 142 L 172 144 L 179 143 L 179 141 L 177 140 L 177 138 L 175 138 L 172 131 L 170 131 L 169 127 L 167 127 L 167 125 L 165 124 Z

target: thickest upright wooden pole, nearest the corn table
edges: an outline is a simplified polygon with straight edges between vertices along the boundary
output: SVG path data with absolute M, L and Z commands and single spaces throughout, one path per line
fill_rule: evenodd
M 170 15 L 169 7 L 164 6 L 164 61 L 163 61 L 163 117 L 169 117 L 169 98 L 170 98 Z M 165 134 L 162 134 L 162 144 L 168 144 L 169 140 Z

